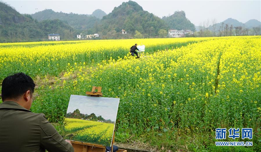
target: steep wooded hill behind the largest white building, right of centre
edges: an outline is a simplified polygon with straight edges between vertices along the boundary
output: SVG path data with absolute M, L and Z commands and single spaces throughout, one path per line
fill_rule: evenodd
M 168 27 L 176 30 L 192 30 L 195 31 L 195 25 L 186 18 L 184 11 L 176 11 L 169 17 L 162 17 L 162 19 L 168 24 Z

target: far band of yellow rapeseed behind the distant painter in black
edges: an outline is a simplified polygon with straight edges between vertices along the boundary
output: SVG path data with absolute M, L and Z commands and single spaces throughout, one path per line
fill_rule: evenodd
M 0 79 L 12 72 L 31 76 L 58 75 L 68 63 L 99 63 L 124 57 L 135 43 L 145 45 L 146 52 L 180 47 L 213 38 L 124 39 L 93 41 L 26 42 L 0 44 Z

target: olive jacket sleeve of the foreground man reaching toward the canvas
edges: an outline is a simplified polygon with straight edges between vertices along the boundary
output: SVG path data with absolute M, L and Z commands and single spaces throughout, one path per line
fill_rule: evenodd
M 66 142 L 44 114 L 40 117 L 41 147 L 47 151 L 74 152 L 73 146 Z

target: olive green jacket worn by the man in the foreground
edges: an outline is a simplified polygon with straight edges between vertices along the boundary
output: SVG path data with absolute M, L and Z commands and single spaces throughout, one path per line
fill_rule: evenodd
M 13 101 L 0 104 L 0 151 L 70 151 L 73 146 L 43 113 L 33 113 Z

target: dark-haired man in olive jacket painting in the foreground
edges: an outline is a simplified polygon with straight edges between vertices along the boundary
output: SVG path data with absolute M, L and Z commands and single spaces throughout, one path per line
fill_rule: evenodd
M 24 73 L 8 76 L 2 83 L 0 104 L 0 151 L 45 150 L 73 152 L 43 113 L 32 113 L 35 83 Z

